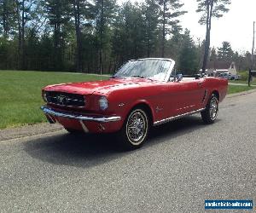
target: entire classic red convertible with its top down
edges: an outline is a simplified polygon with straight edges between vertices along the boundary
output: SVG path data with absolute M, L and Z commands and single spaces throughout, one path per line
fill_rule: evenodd
M 49 123 L 70 133 L 119 134 L 127 148 L 141 147 L 150 127 L 201 112 L 206 124 L 218 116 L 228 81 L 176 75 L 171 59 L 130 60 L 104 81 L 47 86 L 41 107 Z

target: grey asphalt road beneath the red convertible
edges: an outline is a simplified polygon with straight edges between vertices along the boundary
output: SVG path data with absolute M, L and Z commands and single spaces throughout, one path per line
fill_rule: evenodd
M 60 130 L 0 141 L 0 211 L 203 212 L 205 199 L 256 202 L 256 93 L 226 99 L 216 124 L 192 116 L 160 126 L 131 153 L 112 139 Z

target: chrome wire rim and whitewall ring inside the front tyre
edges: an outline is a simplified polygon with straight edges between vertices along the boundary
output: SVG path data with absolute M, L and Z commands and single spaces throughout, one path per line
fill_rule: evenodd
M 148 134 L 148 117 L 141 109 L 131 112 L 126 123 L 126 135 L 134 146 L 143 143 Z

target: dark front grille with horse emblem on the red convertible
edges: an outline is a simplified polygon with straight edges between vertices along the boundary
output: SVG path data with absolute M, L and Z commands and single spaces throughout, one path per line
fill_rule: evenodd
M 85 107 L 84 95 L 62 92 L 45 92 L 45 95 L 50 104 L 61 107 Z

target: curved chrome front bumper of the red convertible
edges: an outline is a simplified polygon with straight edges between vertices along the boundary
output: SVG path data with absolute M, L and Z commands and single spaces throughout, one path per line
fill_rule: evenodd
M 41 107 L 41 110 L 44 111 L 44 114 L 49 114 L 53 115 L 56 117 L 61 117 L 61 118 L 70 118 L 70 119 L 76 119 L 79 121 L 94 121 L 94 122 L 99 122 L 99 123 L 109 123 L 109 122 L 115 122 L 121 120 L 121 117 L 115 116 L 115 117 L 99 117 L 99 118 L 93 118 L 93 117 L 87 117 L 84 115 L 79 115 L 79 114 L 73 114 L 73 113 L 67 113 L 67 112 L 57 112 L 49 107 Z

